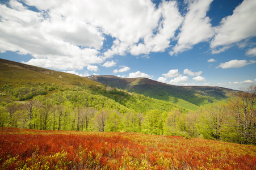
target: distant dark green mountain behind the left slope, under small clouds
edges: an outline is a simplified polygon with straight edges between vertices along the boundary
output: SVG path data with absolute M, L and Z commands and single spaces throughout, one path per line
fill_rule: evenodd
M 174 86 L 148 78 L 121 78 L 113 75 L 91 75 L 86 78 L 192 110 L 198 109 L 200 105 L 227 99 L 237 92 L 223 87 Z

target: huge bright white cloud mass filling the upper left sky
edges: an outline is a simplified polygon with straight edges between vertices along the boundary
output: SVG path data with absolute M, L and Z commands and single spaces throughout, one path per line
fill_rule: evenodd
M 154 3 L 144 0 L 23 3 L 39 11 L 15 0 L 0 5 L 0 52 L 31 54 L 28 64 L 61 70 L 79 70 L 114 54 L 124 55 L 130 45 L 152 35 L 161 17 Z M 115 41 L 102 57 L 104 35 Z

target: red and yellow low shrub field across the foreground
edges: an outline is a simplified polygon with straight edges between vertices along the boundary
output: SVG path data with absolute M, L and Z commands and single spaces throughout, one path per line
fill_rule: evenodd
M 256 169 L 256 146 L 139 133 L 0 128 L 0 169 Z

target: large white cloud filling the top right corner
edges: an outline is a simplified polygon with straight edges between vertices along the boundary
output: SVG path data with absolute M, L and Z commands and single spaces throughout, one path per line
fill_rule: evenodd
M 256 35 L 256 1 L 245 0 L 237 6 L 233 14 L 221 20 L 216 27 L 217 34 L 211 41 L 212 53 L 220 53 L 235 42 Z

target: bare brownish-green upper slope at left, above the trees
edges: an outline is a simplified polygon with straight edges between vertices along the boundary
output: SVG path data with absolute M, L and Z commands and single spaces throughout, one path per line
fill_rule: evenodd
M 24 83 L 54 83 L 56 86 L 63 87 L 100 84 L 78 75 L 44 69 L 0 58 L 0 87 L 5 84 L 19 87 Z

